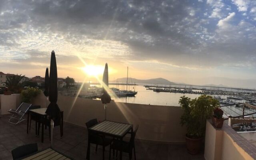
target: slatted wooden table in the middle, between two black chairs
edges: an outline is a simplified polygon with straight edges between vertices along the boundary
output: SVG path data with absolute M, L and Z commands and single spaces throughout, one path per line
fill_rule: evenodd
M 90 127 L 89 130 L 96 134 L 103 134 L 123 140 L 124 136 L 129 132 L 129 130 L 133 131 L 132 128 L 132 124 L 104 120 L 103 122 Z M 88 147 L 90 153 L 90 146 Z M 122 160 L 122 150 L 120 151 L 120 160 Z

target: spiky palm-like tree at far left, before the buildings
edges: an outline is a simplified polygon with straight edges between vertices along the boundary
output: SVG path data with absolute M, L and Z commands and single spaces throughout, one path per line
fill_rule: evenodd
M 20 80 L 24 76 L 15 75 L 15 76 L 7 76 L 5 86 L 8 87 L 8 90 L 12 91 L 13 93 L 20 93 L 22 90 L 22 85 L 20 83 Z

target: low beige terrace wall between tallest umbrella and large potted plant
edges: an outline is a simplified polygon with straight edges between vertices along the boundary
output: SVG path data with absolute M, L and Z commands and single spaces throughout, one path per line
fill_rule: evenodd
M 58 96 L 58 106 L 64 110 L 64 120 L 85 127 L 92 118 L 104 120 L 104 107 L 100 100 Z M 153 106 L 110 102 L 106 119 L 138 124 L 137 138 L 161 142 L 184 143 L 186 128 L 180 126 L 182 109 L 174 106 Z

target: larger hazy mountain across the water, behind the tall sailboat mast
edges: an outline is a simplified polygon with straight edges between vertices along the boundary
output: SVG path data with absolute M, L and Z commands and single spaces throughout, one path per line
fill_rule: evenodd
M 121 83 L 126 83 L 126 78 L 118 78 L 115 80 L 115 82 L 121 82 Z M 153 78 L 149 80 L 138 80 L 136 78 L 128 78 L 129 83 L 142 83 L 142 84 L 170 84 L 170 85 L 177 85 L 174 82 L 170 82 L 164 78 Z

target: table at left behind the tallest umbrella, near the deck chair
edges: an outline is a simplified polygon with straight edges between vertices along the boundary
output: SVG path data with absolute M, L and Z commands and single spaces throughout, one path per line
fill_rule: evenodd
M 30 113 L 33 112 L 36 114 L 39 118 L 47 118 L 47 114 L 45 113 L 47 108 L 38 108 L 34 110 L 28 110 L 28 122 L 27 122 L 27 134 L 28 134 L 28 126 L 29 126 L 29 116 Z M 60 111 L 60 116 L 61 116 L 61 122 L 60 122 L 60 136 L 63 136 L 63 111 Z M 40 124 L 38 125 L 40 127 Z M 38 133 L 39 134 L 39 133 Z M 44 142 L 44 124 L 42 123 L 42 143 Z

